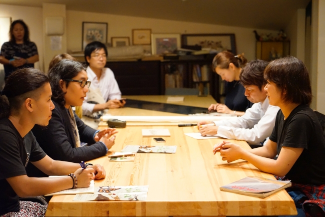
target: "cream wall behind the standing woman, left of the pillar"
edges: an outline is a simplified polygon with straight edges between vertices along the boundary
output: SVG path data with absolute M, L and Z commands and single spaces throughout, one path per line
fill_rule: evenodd
M 35 68 L 43 70 L 43 19 L 42 9 L 36 7 L 12 6 L 0 4 L 0 16 L 11 17 L 11 20 L 22 19 L 29 28 L 30 41 L 37 46 L 39 61 Z M 9 30 L 8 30 L 9 32 Z M 0 45 L 1 46 L 1 45 Z

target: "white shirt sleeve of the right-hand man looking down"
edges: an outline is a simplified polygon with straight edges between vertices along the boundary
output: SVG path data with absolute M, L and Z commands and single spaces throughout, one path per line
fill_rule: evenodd
M 244 140 L 249 144 L 258 144 L 271 135 L 278 110 L 279 107 L 269 105 L 264 116 L 252 128 L 219 126 L 217 135 L 228 139 Z

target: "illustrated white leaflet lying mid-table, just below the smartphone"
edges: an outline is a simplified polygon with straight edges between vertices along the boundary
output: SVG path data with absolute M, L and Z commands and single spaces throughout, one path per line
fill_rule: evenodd
M 177 146 L 126 145 L 121 152 L 137 153 L 176 153 Z

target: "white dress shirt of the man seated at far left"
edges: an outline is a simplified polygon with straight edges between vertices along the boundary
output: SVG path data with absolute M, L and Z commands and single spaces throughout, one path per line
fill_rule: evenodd
M 107 102 L 111 99 L 120 99 L 121 92 L 119 90 L 118 84 L 115 80 L 114 73 L 109 68 L 103 68 L 100 78 L 98 80 L 96 74 L 88 66 L 87 69 L 88 81 L 91 81 L 91 89 L 99 89 L 101 96 Z M 87 103 L 87 96 L 84 98 L 82 103 L 82 114 L 90 115 L 92 114 L 93 107 L 95 104 Z

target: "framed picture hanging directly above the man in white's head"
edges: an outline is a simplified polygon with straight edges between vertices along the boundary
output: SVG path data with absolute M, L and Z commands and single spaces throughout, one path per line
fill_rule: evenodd
M 82 22 L 82 50 L 90 42 L 107 43 L 107 23 Z

